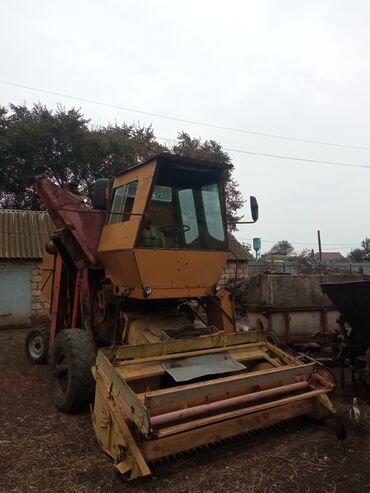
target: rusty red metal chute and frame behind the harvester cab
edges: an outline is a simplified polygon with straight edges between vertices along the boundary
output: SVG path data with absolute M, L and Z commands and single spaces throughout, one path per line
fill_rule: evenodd
M 68 273 L 73 265 L 76 273 L 70 327 L 83 326 L 91 329 L 92 311 L 90 295 L 91 271 L 102 269 L 96 252 L 100 234 L 105 224 L 106 211 L 93 210 L 68 191 L 58 187 L 47 178 L 34 185 L 34 189 L 47 208 L 56 231 L 52 237 L 58 255 L 56 257 L 49 347 L 54 344 L 59 330 L 65 326 L 68 290 Z M 63 258 L 63 260 L 62 260 Z M 63 263 L 64 262 L 64 263 Z M 72 267 L 73 271 L 73 267 Z M 69 313 L 69 312 L 68 312 Z

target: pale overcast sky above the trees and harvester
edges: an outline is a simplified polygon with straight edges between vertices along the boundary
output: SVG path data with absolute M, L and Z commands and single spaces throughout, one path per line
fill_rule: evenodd
M 2 82 L 242 131 L 3 83 L 0 104 L 61 102 L 94 124 L 219 141 L 260 204 L 237 236 L 263 250 L 314 248 L 318 229 L 324 250 L 344 254 L 370 237 L 370 2 L 2 0 L 0 19 Z

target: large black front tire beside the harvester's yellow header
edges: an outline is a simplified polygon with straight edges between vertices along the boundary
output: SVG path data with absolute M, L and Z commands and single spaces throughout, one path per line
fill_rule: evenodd
M 50 353 L 52 398 L 60 411 L 83 411 L 94 398 L 94 342 L 83 329 L 61 330 Z

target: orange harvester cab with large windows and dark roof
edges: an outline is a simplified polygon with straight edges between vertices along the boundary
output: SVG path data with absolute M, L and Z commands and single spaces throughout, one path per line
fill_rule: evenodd
M 137 300 L 213 296 L 228 256 L 224 209 L 220 165 L 161 157 L 123 172 L 98 247 L 106 276 Z

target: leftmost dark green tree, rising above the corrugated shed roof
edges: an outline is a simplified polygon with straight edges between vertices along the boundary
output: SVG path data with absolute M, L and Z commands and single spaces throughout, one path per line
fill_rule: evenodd
M 31 185 L 48 177 L 59 185 L 81 172 L 80 149 L 87 121 L 72 109 L 53 115 L 37 104 L 10 105 L 0 134 L 0 200 L 3 207 L 39 207 Z

